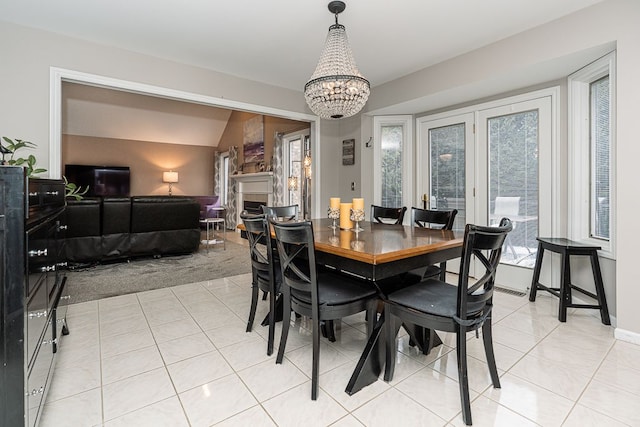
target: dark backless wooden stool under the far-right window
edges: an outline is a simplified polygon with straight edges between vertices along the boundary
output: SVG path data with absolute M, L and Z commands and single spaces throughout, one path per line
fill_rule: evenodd
M 560 275 L 560 287 L 551 288 L 541 285 L 540 269 L 542 267 L 542 257 L 544 250 L 559 253 L 562 256 L 562 273 Z M 558 312 L 558 320 L 567 321 L 567 307 L 575 308 L 597 308 L 600 310 L 602 323 L 610 325 L 609 310 L 607 309 L 607 299 L 604 295 L 604 287 L 602 284 L 602 273 L 600 272 L 600 262 L 598 261 L 598 250 L 600 246 L 585 245 L 574 242 L 569 239 L 555 237 L 538 237 L 538 255 L 536 257 L 536 266 L 533 270 L 533 280 L 531 281 L 531 291 L 529 293 L 529 301 L 536 300 L 536 292 L 538 289 L 547 291 L 560 298 L 560 310 Z M 593 294 L 571 283 L 571 267 L 569 258 L 571 255 L 584 255 L 591 259 L 591 269 L 593 270 L 593 279 L 596 284 L 596 293 Z M 571 299 L 571 290 L 575 289 L 587 296 L 598 301 L 594 304 L 574 304 Z

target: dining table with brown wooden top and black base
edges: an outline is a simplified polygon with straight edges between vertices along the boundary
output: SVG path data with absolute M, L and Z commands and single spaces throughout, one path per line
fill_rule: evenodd
M 311 223 L 316 263 L 371 282 L 381 297 L 393 290 L 394 277 L 459 258 L 462 253 L 463 236 L 455 231 L 362 221 L 362 231 L 355 232 L 331 228 L 327 218 Z M 242 224 L 238 228 L 244 229 Z M 383 325 L 381 313 L 347 384 L 349 395 L 377 381 L 382 372 Z

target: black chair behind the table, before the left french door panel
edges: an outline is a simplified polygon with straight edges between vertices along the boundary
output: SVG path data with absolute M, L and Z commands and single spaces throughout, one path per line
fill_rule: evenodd
M 411 227 L 430 228 L 437 230 L 453 229 L 453 222 L 458 214 L 457 209 L 436 211 L 429 209 L 411 208 Z M 447 262 L 441 262 L 439 266 L 429 265 L 409 271 L 404 279 L 405 283 L 415 283 L 430 277 L 439 277 L 445 281 L 447 275 Z

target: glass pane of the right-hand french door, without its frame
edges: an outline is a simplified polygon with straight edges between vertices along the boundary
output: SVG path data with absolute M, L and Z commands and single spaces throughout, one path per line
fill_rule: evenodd
M 533 267 L 538 236 L 538 110 L 488 119 L 489 223 L 513 222 L 501 262 Z

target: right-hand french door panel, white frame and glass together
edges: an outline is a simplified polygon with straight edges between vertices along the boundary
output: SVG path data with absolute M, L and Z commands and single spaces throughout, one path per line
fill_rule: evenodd
M 538 236 L 552 233 L 551 96 L 478 112 L 477 209 L 487 224 L 513 224 L 502 250 L 496 282 L 526 291 Z

